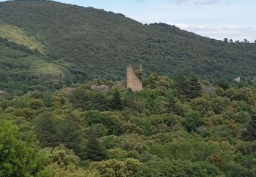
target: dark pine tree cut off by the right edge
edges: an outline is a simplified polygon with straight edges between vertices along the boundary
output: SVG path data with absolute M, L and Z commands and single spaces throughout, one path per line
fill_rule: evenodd
M 256 140 L 256 115 L 253 115 L 251 120 L 248 122 L 246 127 L 246 131 L 242 134 L 242 137 L 246 141 L 254 141 Z

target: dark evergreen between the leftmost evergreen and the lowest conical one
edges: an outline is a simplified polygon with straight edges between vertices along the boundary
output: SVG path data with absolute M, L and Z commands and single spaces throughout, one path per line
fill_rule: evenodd
M 65 118 L 59 125 L 59 140 L 68 149 L 74 150 L 83 159 L 84 150 L 82 133 L 70 117 Z

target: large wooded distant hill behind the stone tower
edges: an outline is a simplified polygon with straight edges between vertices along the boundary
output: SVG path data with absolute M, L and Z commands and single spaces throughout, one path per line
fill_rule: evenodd
M 101 76 L 121 80 L 128 63 L 167 76 L 191 71 L 211 80 L 256 76 L 256 44 L 229 44 L 162 23 L 142 25 L 122 14 L 54 1 L 1 2 L 0 37 L 37 51 L 20 57 L 20 50 L 1 45 L 0 65 L 23 67 L 1 67 L 0 82 L 6 77 L 23 82 L 32 71 L 34 78 L 51 76 L 48 83 Z

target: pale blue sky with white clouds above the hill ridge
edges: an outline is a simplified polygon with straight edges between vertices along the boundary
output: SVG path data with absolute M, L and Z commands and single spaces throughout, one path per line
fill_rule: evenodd
M 256 39 L 256 0 L 58 1 L 122 13 L 143 24 L 165 22 L 214 39 Z

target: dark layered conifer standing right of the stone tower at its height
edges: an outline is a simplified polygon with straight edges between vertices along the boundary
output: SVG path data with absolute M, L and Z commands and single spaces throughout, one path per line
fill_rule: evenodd
M 187 88 L 188 88 L 188 93 L 186 96 L 189 99 L 195 99 L 201 96 L 202 86 L 199 82 L 198 76 L 195 73 L 190 74 L 190 77 L 187 82 Z

